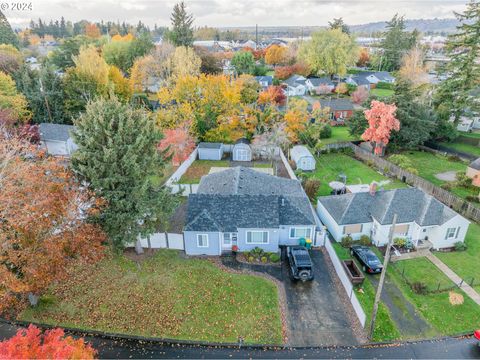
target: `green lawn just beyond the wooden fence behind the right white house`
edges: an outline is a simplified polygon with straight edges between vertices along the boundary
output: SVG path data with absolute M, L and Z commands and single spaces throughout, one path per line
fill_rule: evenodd
M 437 186 L 441 186 L 445 181 L 437 179 L 435 177 L 436 174 L 447 171 L 465 172 L 467 170 L 467 164 L 462 161 L 449 160 L 446 156 L 425 151 L 405 151 L 402 155 L 407 156 L 411 160 L 413 167 L 418 170 L 420 177 Z M 450 192 L 461 198 L 465 198 L 468 195 L 478 195 L 477 189 L 467 189 L 457 186 L 453 187 Z

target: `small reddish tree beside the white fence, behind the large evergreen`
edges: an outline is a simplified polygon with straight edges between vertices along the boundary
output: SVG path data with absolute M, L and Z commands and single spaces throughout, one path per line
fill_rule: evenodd
M 172 157 L 172 164 L 179 166 L 195 149 L 195 141 L 186 129 L 167 129 L 158 148 L 167 150 L 167 155 Z

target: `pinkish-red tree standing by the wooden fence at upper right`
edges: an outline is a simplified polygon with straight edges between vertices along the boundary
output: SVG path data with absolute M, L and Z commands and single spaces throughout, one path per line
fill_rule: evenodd
M 391 132 L 400 130 L 400 121 L 395 117 L 396 111 L 395 104 L 373 100 L 370 109 L 363 112 L 368 121 L 368 128 L 362 134 L 362 139 L 372 143 L 374 153 L 377 155 L 382 154 L 390 140 Z

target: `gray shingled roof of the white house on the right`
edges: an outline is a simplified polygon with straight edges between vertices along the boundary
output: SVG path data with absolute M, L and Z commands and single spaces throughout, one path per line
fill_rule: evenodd
M 323 196 L 318 201 L 339 225 L 368 223 L 374 218 L 380 224 L 415 221 L 422 226 L 441 225 L 457 215 L 455 211 L 417 188 Z

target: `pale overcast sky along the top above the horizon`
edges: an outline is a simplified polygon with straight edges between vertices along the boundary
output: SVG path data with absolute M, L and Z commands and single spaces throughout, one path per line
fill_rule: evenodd
M 0 0 L 5 3 L 29 0 Z M 347 24 L 364 24 L 390 19 L 395 13 L 408 19 L 452 18 L 467 0 L 187 0 L 196 26 L 321 26 L 334 17 Z M 167 26 L 175 0 L 32 0 L 33 11 L 5 10 L 14 27 L 28 25 L 30 19 L 90 21 L 112 20 L 153 26 Z

